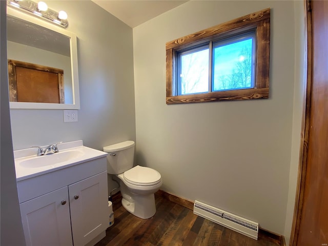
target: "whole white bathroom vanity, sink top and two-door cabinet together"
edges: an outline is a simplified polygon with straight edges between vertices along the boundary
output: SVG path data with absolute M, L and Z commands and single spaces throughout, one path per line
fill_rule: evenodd
M 94 245 L 108 228 L 107 153 L 81 140 L 58 153 L 14 151 L 18 200 L 27 245 Z

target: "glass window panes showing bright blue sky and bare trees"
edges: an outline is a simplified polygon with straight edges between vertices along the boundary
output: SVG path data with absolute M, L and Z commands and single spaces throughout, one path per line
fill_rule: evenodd
M 212 91 L 252 88 L 253 36 L 213 43 Z M 209 46 L 181 52 L 178 94 L 209 92 Z

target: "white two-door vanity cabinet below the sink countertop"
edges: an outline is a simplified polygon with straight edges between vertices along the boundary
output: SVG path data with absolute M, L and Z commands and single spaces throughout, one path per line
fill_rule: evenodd
M 108 228 L 106 154 L 17 180 L 27 245 L 94 245 Z

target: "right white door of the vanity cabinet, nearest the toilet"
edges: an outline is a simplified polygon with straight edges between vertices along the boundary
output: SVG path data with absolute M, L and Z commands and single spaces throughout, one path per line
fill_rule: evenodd
M 108 228 L 107 171 L 68 187 L 74 246 L 85 245 Z

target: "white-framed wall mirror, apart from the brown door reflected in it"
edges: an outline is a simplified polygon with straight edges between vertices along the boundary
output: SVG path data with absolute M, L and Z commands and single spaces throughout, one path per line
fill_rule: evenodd
M 18 64 L 26 63 L 35 67 L 50 67 L 64 71 L 62 78 L 64 98 L 60 100 L 61 103 L 22 102 L 17 99 L 14 101 L 11 97 L 11 109 L 79 109 L 75 34 L 33 15 L 8 7 L 7 58 L 9 63 L 14 60 Z M 9 74 L 9 80 L 11 77 L 13 76 Z M 16 95 L 24 93 L 19 92 L 17 88 L 12 88 L 12 81 L 9 83 L 10 93 L 14 92 Z

